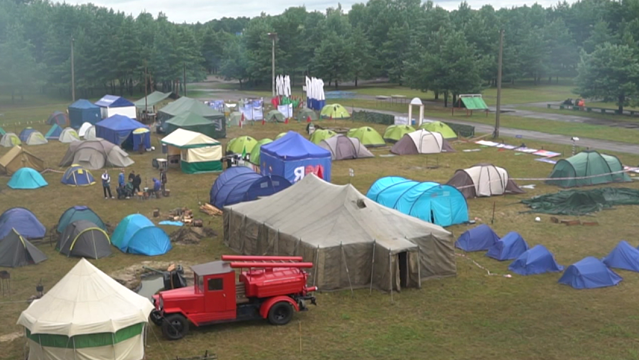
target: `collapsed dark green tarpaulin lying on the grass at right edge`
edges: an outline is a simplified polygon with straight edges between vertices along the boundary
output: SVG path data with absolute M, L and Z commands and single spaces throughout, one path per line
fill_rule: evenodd
M 585 215 L 615 205 L 639 205 L 639 190 L 626 187 L 603 187 L 592 190 L 567 190 L 521 200 L 531 210 L 542 214 Z

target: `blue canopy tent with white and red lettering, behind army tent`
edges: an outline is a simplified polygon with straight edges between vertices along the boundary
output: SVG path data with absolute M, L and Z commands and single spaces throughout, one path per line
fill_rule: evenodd
M 282 176 L 291 184 L 309 173 L 330 182 L 330 152 L 294 131 L 262 145 L 259 161 L 262 175 Z

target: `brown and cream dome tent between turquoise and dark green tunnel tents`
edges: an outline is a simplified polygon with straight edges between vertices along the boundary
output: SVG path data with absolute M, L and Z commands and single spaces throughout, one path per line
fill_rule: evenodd
M 509 178 L 506 169 L 493 164 L 477 164 L 459 169 L 446 184 L 456 187 L 466 199 L 524 192 Z

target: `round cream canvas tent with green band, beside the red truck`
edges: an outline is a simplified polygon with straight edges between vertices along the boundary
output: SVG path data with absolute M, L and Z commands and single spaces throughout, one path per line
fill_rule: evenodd
M 31 360 L 141 360 L 151 302 L 84 258 L 22 311 Z

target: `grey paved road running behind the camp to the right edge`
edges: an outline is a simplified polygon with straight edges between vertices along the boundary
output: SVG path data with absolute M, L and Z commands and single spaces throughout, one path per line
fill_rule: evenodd
M 396 113 L 394 111 L 383 111 L 383 110 L 377 110 L 377 109 L 376 110 L 360 109 L 358 107 L 355 107 L 354 109 L 356 111 L 375 111 L 377 113 L 385 113 L 385 114 L 390 114 L 394 116 L 407 116 L 407 114 Z M 482 132 L 482 133 L 492 133 L 493 130 L 495 129 L 495 127 L 491 125 L 473 123 L 472 121 L 449 119 L 449 118 L 437 118 L 437 117 L 429 116 L 429 119 L 430 118 L 436 119 L 436 120 L 445 120 L 451 123 L 472 125 L 475 127 L 475 131 Z M 523 137 L 523 139 L 532 139 L 534 141 L 543 141 L 546 143 L 553 143 L 553 144 L 560 144 L 560 145 L 573 145 L 573 140 L 571 139 L 571 137 L 565 136 L 565 135 L 547 134 L 545 132 L 511 129 L 507 127 L 500 127 L 499 133 L 502 136 L 508 136 L 508 137 L 521 136 Z M 608 150 L 612 152 L 639 154 L 639 145 L 630 144 L 630 143 L 620 143 L 618 141 L 586 139 L 586 138 L 580 137 L 578 145 L 581 147 Z

